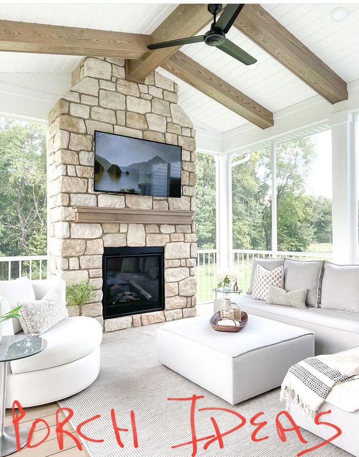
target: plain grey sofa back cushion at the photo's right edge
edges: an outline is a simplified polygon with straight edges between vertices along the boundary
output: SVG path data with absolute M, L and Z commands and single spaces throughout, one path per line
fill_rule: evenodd
M 359 265 L 324 263 L 321 307 L 359 313 Z

